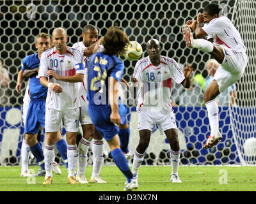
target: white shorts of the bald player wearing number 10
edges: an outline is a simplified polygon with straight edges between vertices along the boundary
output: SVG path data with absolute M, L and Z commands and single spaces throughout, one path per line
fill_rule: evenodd
M 71 133 L 78 132 L 79 108 L 61 111 L 45 108 L 45 132 L 59 131 L 62 119 L 66 131 Z

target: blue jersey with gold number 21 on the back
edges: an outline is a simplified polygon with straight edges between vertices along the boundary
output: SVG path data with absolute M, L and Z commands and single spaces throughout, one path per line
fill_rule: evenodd
M 124 73 L 124 63 L 115 55 L 97 52 L 88 64 L 88 92 L 90 105 L 108 105 L 109 77 L 120 82 Z

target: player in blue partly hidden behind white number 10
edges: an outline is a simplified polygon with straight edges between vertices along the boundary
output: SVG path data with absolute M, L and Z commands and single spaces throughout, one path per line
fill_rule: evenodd
M 40 143 L 37 141 L 38 131 L 40 127 L 44 128 L 45 124 L 45 99 L 47 96 L 47 87 L 40 84 L 40 80 L 36 78 L 36 73 L 38 72 L 38 66 L 40 64 L 40 57 L 42 53 L 51 48 L 51 38 L 46 33 L 41 33 L 36 37 L 35 44 L 38 52 L 32 55 L 28 55 L 22 61 L 22 68 L 18 75 L 16 89 L 20 92 L 22 77 L 30 77 L 29 81 L 29 98 L 30 102 L 28 105 L 28 110 L 26 113 L 25 120 L 25 139 L 24 141 L 29 146 L 29 149 L 36 158 L 38 164 L 40 164 L 40 170 L 36 173 L 36 176 L 44 176 L 44 154 Z M 29 72 L 29 73 L 28 73 Z M 22 142 L 22 145 L 24 143 Z M 56 144 L 60 150 L 61 156 L 64 160 L 67 160 L 67 143 L 61 135 L 58 136 L 58 144 Z M 22 157 L 28 158 L 29 151 L 26 154 L 22 154 Z M 23 159 L 23 158 L 22 158 Z M 27 162 L 28 163 L 28 162 Z M 60 174 L 61 170 L 54 164 L 54 172 Z M 21 175 L 25 175 L 24 172 Z

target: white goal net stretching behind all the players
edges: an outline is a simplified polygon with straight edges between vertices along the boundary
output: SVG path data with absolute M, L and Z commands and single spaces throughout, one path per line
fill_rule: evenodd
M 196 18 L 205 5 L 218 3 L 223 14 L 234 23 L 244 40 L 248 54 L 248 66 L 244 77 L 236 83 L 236 105 L 220 103 L 220 131 L 223 140 L 209 150 L 202 149 L 206 136 L 210 134 L 209 120 L 204 106 L 204 78 L 209 77 L 205 62 L 210 59 L 196 49 L 186 47 L 181 26 L 189 18 Z M 173 84 L 172 99 L 181 148 L 180 164 L 254 164 L 256 156 L 256 110 L 255 110 L 255 65 L 256 65 L 256 1 L 179 1 L 179 0 L 88 0 L 88 1 L 0 1 L 0 59 L 3 61 L 1 75 L 7 73 L 8 84 L 0 89 L 0 164 L 19 165 L 20 147 L 24 136 L 22 124 L 22 94 L 15 91 L 17 74 L 26 55 L 36 52 L 35 36 L 45 32 L 51 34 L 55 27 L 67 30 L 68 46 L 82 40 L 84 25 L 92 24 L 104 36 L 114 23 L 127 33 L 130 40 L 138 41 L 146 57 L 146 43 L 151 38 L 160 41 L 161 55 L 171 57 L 183 68 L 193 64 L 194 88 L 185 90 Z M 124 78 L 131 82 L 136 62 L 124 60 Z M 5 68 L 5 69 L 4 69 Z M 4 71 L 5 70 L 5 71 Z M 201 77 L 201 78 L 200 78 Z M 133 98 L 129 98 L 131 101 Z M 135 105 L 129 105 L 131 137 L 129 149 L 134 152 L 138 145 L 138 118 Z M 44 143 L 44 132 L 41 135 Z M 170 146 L 160 136 L 157 126 L 151 136 L 147 156 L 143 164 L 169 165 Z M 254 144 L 254 146 L 253 146 Z M 111 164 L 106 145 L 105 163 Z M 89 154 L 92 154 L 89 152 Z M 58 158 L 61 163 L 61 157 Z M 35 159 L 29 161 L 35 164 Z M 132 159 L 130 160 L 130 163 Z M 89 157 L 92 163 L 92 157 Z

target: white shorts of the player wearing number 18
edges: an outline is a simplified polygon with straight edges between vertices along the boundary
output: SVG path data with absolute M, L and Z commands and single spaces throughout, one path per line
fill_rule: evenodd
M 138 111 L 138 129 L 148 129 L 152 131 L 154 125 L 157 124 L 160 132 L 167 129 L 177 129 L 175 122 L 175 113 L 172 107 L 168 106 L 157 111 L 152 111 L 150 106 L 141 106 Z

